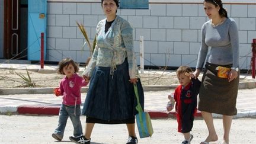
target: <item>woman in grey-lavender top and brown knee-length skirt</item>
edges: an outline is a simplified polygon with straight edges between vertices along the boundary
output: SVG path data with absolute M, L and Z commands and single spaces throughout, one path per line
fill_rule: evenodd
M 222 114 L 223 143 L 229 143 L 232 118 L 236 115 L 236 97 L 239 84 L 238 28 L 228 18 L 221 0 L 204 0 L 204 11 L 209 21 L 201 28 L 201 47 L 194 75 L 199 76 L 206 61 L 201 80 L 199 110 L 206 122 L 209 135 L 201 144 L 218 139 L 212 113 Z M 209 49 L 210 47 L 210 49 Z M 207 53 L 209 51 L 209 55 Z M 207 57 L 207 59 L 206 59 Z M 227 72 L 221 73 L 222 67 Z M 219 75 L 218 75 L 219 72 Z

